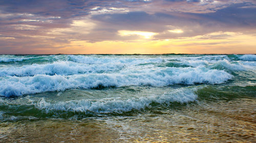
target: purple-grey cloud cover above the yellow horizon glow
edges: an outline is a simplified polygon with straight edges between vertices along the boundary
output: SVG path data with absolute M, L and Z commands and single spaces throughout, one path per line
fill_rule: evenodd
M 0 1 L 0 53 L 74 41 L 182 39 L 256 33 L 256 1 Z M 227 38 L 225 34 L 203 37 Z

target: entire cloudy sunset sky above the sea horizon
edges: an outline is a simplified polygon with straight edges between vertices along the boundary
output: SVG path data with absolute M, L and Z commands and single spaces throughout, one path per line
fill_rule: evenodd
M 256 1 L 0 1 L 0 54 L 57 53 L 256 53 Z

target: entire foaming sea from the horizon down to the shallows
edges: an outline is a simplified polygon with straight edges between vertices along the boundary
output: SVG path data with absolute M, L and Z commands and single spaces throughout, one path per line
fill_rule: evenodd
M 0 142 L 255 142 L 255 54 L 0 55 Z

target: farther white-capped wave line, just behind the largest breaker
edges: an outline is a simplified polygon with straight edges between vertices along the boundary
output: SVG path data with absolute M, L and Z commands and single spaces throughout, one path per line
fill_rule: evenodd
M 152 66 L 152 67 L 149 67 Z M 200 67 L 204 66 L 210 69 L 218 70 L 231 70 L 231 71 L 245 71 L 246 68 L 255 67 L 254 63 L 246 62 L 232 62 L 227 60 L 218 61 L 215 63 L 209 63 L 207 61 L 186 61 L 182 63 L 165 63 L 166 67 Z M 250 66 L 250 67 L 249 67 Z M 158 66 L 159 69 L 164 68 L 163 66 Z M 34 76 L 37 74 L 46 75 L 74 75 L 74 74 L 91 74 L 91 73 L 110 73 L 110 72 L 120 72 L 120 70 L 131 70 L 137 69 L 138 71 L 145 70 L 145 68 L 154 68 L 154 65 L 147 65 L 147 67 L 139 67 L 136 65 L 132 67 L 131 65 L 122 63 L 106 63 L 106 64 L 80 64 L 70 61 L 60 61 L 51 64 L 32 64 L 25 65 L 22 67 L 7 67 L 0 68 L 1 76 Z

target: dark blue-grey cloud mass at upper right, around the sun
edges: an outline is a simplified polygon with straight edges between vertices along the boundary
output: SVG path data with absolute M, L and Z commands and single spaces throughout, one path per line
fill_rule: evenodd
M 256 9 L 233 4 L 211 13 L 169 12 L 148 14 L 129 12 L 122 14 L 100 14 L 92 17 L 99 21 L 99 27 L 130 31 L 148 31 L 160 33 L 156 39 L 190 37 L 218 31 L 245 32 L 256 28 Z M 172 25 L 167 26 L 167 25 Z M 169 33 L 168 30 L 182 29 L 183 33 Z M 96 31 L 94 31 L 96 32 Z M 255 31 L 252 31 L 254 33 Z

